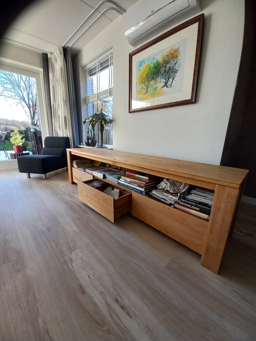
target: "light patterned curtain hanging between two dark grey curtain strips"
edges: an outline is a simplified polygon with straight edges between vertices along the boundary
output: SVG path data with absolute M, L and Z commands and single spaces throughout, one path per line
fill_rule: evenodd
M 68 94 L 66 64 L 63 50 L 60 46 L 54 53 L 47 53 L 48 56 L 48 84 L 50 94 L 52 135 L 68 136 L 71 147 L 73 143 L 72 118 Z M 46 63 L 44 63 L 44 66 Z M 43 70 L 47 72 L 47 70 Z M 47 86 L 47 84 L 45 84 Z M 46 92 L 46 91 L 45 91 Z M 45 93 L 47 97 L 47 93 Z M 46 100 L 47 104 L 47 100 Z M 49 113 L 47 114 L 49 120 Z M 48 127 L 50 133 L 51 126 Z

